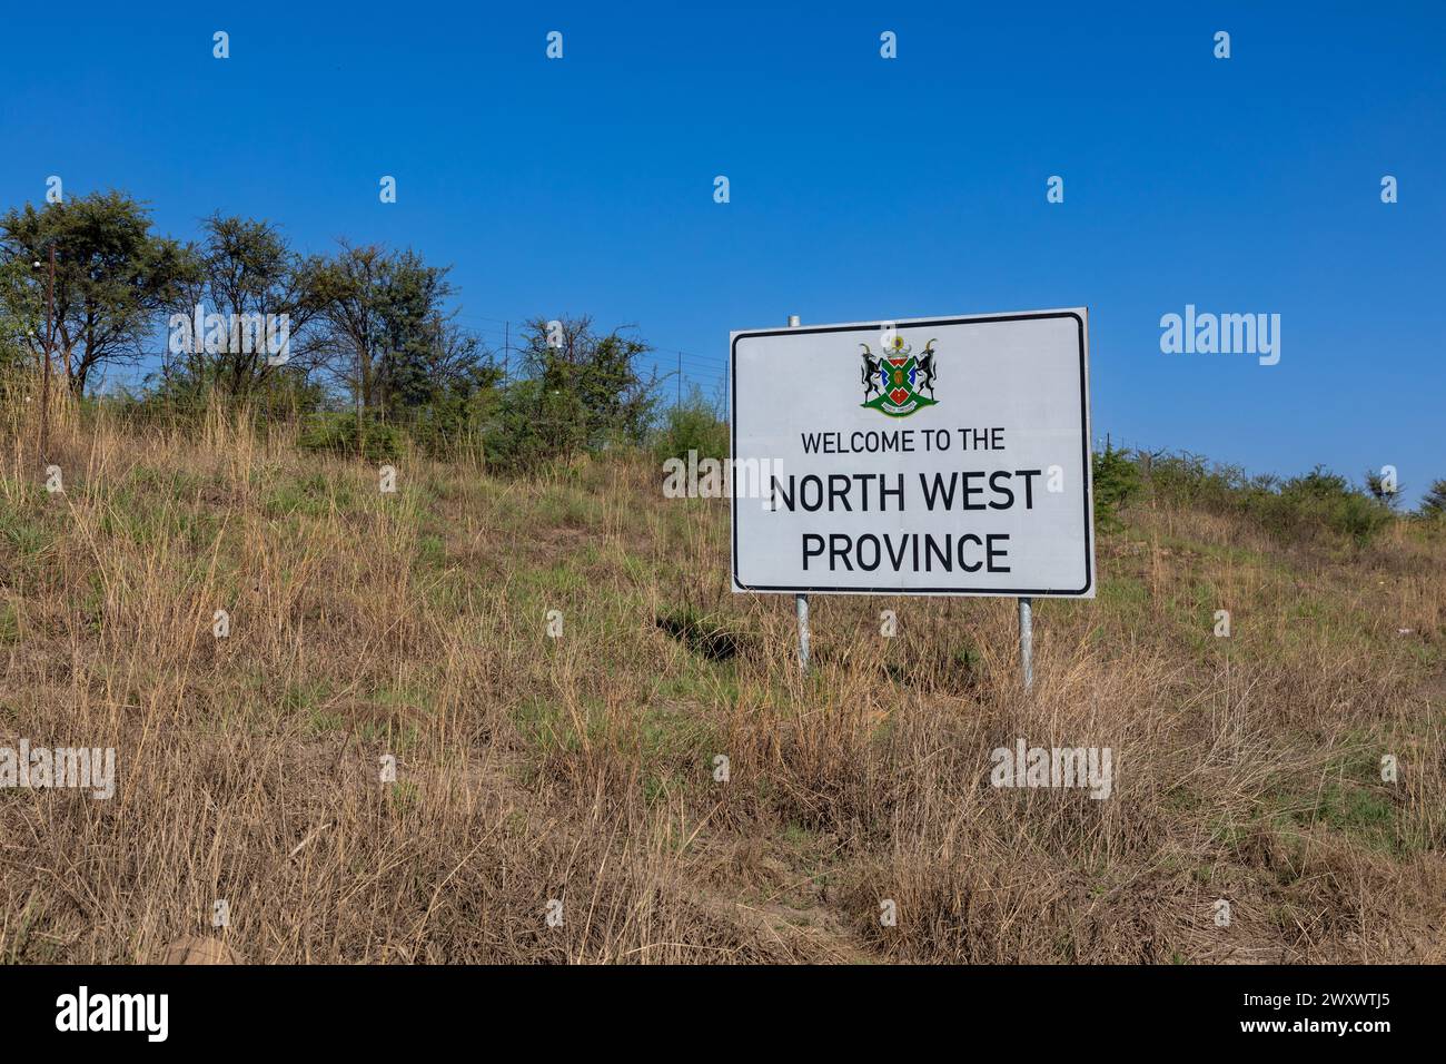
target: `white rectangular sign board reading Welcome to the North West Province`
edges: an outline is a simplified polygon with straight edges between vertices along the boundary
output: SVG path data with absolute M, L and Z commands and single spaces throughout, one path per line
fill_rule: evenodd
M 732 333 L 733 589 L 1093 598 L 1086 321 Z

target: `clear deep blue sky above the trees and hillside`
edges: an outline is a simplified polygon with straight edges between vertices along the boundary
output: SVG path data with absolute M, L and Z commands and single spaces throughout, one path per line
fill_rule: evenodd
M 4 206 L 58 174 L 71 195 L 149 200 L 178 237 L 220 208 L 304 250 L 411 245 L 453 265 L 463 318 L 495 346 L 503 320 L 590 313 L 636 324 L 665 369 L 685 352 L 707 385 L 730 329 L 791 313 L 1087 305 L 1098 436 L 1255 472 L 1390 463 L 1411 501 L 1446 476 L 1440 4 L 155 3 L 6 20 L 55 49 L 6 80 Z M 1278 313 L 1280 363 L 1163 355 L 1160 317 L 1186 304 Z

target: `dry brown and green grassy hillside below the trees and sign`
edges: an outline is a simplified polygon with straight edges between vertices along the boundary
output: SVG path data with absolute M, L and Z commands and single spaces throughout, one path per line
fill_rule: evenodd
M 65 415 L 51 495 L 20 428 L 0 746 L 119 779 L 0 790 L 6 961 L 1446 960 L 1420 524 L 1281 537 L 1147 486 L 1098 601 L 1037 602 L 1025 696 L 1006 599 L 818 596 L 801 679 L 791 599 L 727 589 L 727 502 L 643 457 L 408 457 L 382 494 L 218 417 Z M 1111 747 L 1112 798 L 991 788 L 1021 737 Z

